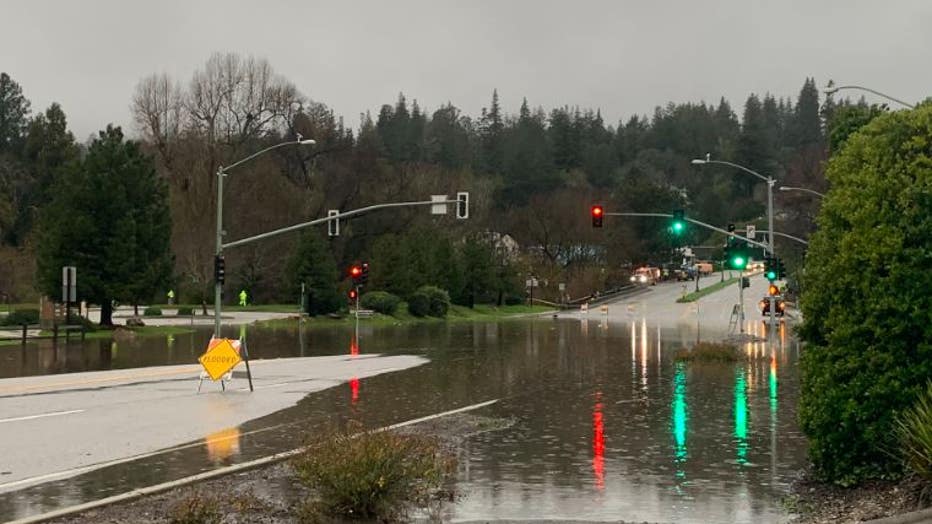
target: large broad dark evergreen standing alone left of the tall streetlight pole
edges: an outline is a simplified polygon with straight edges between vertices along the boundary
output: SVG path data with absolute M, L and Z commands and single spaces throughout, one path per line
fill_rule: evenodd
M 108 126 L 86 157 L 52 187 L 41 214 L 38 279 L 60 291 L 61 267 L 78 268 L 78 298 L 101 304 L 110 325 L 111 301 L 145 302 L 163 289 L 172 269 L 171 217 L 165 182 L 139 145 Z

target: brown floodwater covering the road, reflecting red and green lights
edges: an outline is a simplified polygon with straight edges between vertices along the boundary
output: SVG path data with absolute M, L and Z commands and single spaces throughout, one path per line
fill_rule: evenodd
M 202 441 L 2 493 L 0 518 L 284 451 L 334 426 L 380 427 L 491 399 L 500 400 L 476 413 L 514 423 L 460 450 L 462 497 L 445 520 L 775 522 L 786 519 L 780 498 L 804 463 L 799 348 L 782 326 L 770 342 L 743 346 L 749 360 L 737 365 L 675 363 L 695 327 L 649 318 L 225 334 L 246 335 L 253 358 L 406 353 L 430 363 L 310 394 Z M 192 363 L 209 336 L 0 347 L 0 377 Z

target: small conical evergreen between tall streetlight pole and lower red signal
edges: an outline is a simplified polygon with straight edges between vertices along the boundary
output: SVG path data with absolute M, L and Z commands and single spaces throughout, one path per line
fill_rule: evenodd
M 286 289 L 300 290 L 304 283 L 309 315 L 325 315 L 340 309 L 343 303 L 337 291 L 340 272 L 319 231 L 308 230 L 301 235 L 286 275 Z

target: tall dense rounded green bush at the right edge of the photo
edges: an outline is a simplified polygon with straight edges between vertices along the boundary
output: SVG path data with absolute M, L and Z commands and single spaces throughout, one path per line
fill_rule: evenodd
M 800 422 L 823 478 L 894 475 L 895 419 L 932 378 L 932 106 L 881 115 L 828 167 L 806 256 Z

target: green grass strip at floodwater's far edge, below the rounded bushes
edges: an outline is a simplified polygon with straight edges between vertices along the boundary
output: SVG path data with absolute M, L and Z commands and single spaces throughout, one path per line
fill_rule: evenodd
M 512 318 L 521 318 L 527 315 L 537 315 L 554 311 L 547 306 L 493 306 L 488 304 L 476 304 L 472 309 L 466 306 L 451 305 L 446 317 L 416 317 L 408 311 L 408 304 L 402 302 L 392 315 L 382 315 L 373 313 L 372 316 L 362 317 L 360 322 L 370 325 L 402 325 L 402 324 L 423 324 L 436 322 L 475 322 L 489 320 L 508 320 Z M 340 327 L 355 322 L 353 312 L 349 311 L 342 318 L 331 318 L 326 316 L 305 317 L 305 318 L 283 318 L 273 320 L 262 320 L 257 324 L 270 328 L 287 328 L 296 326 L 303 322 L 309 326 L 315 327 Z

